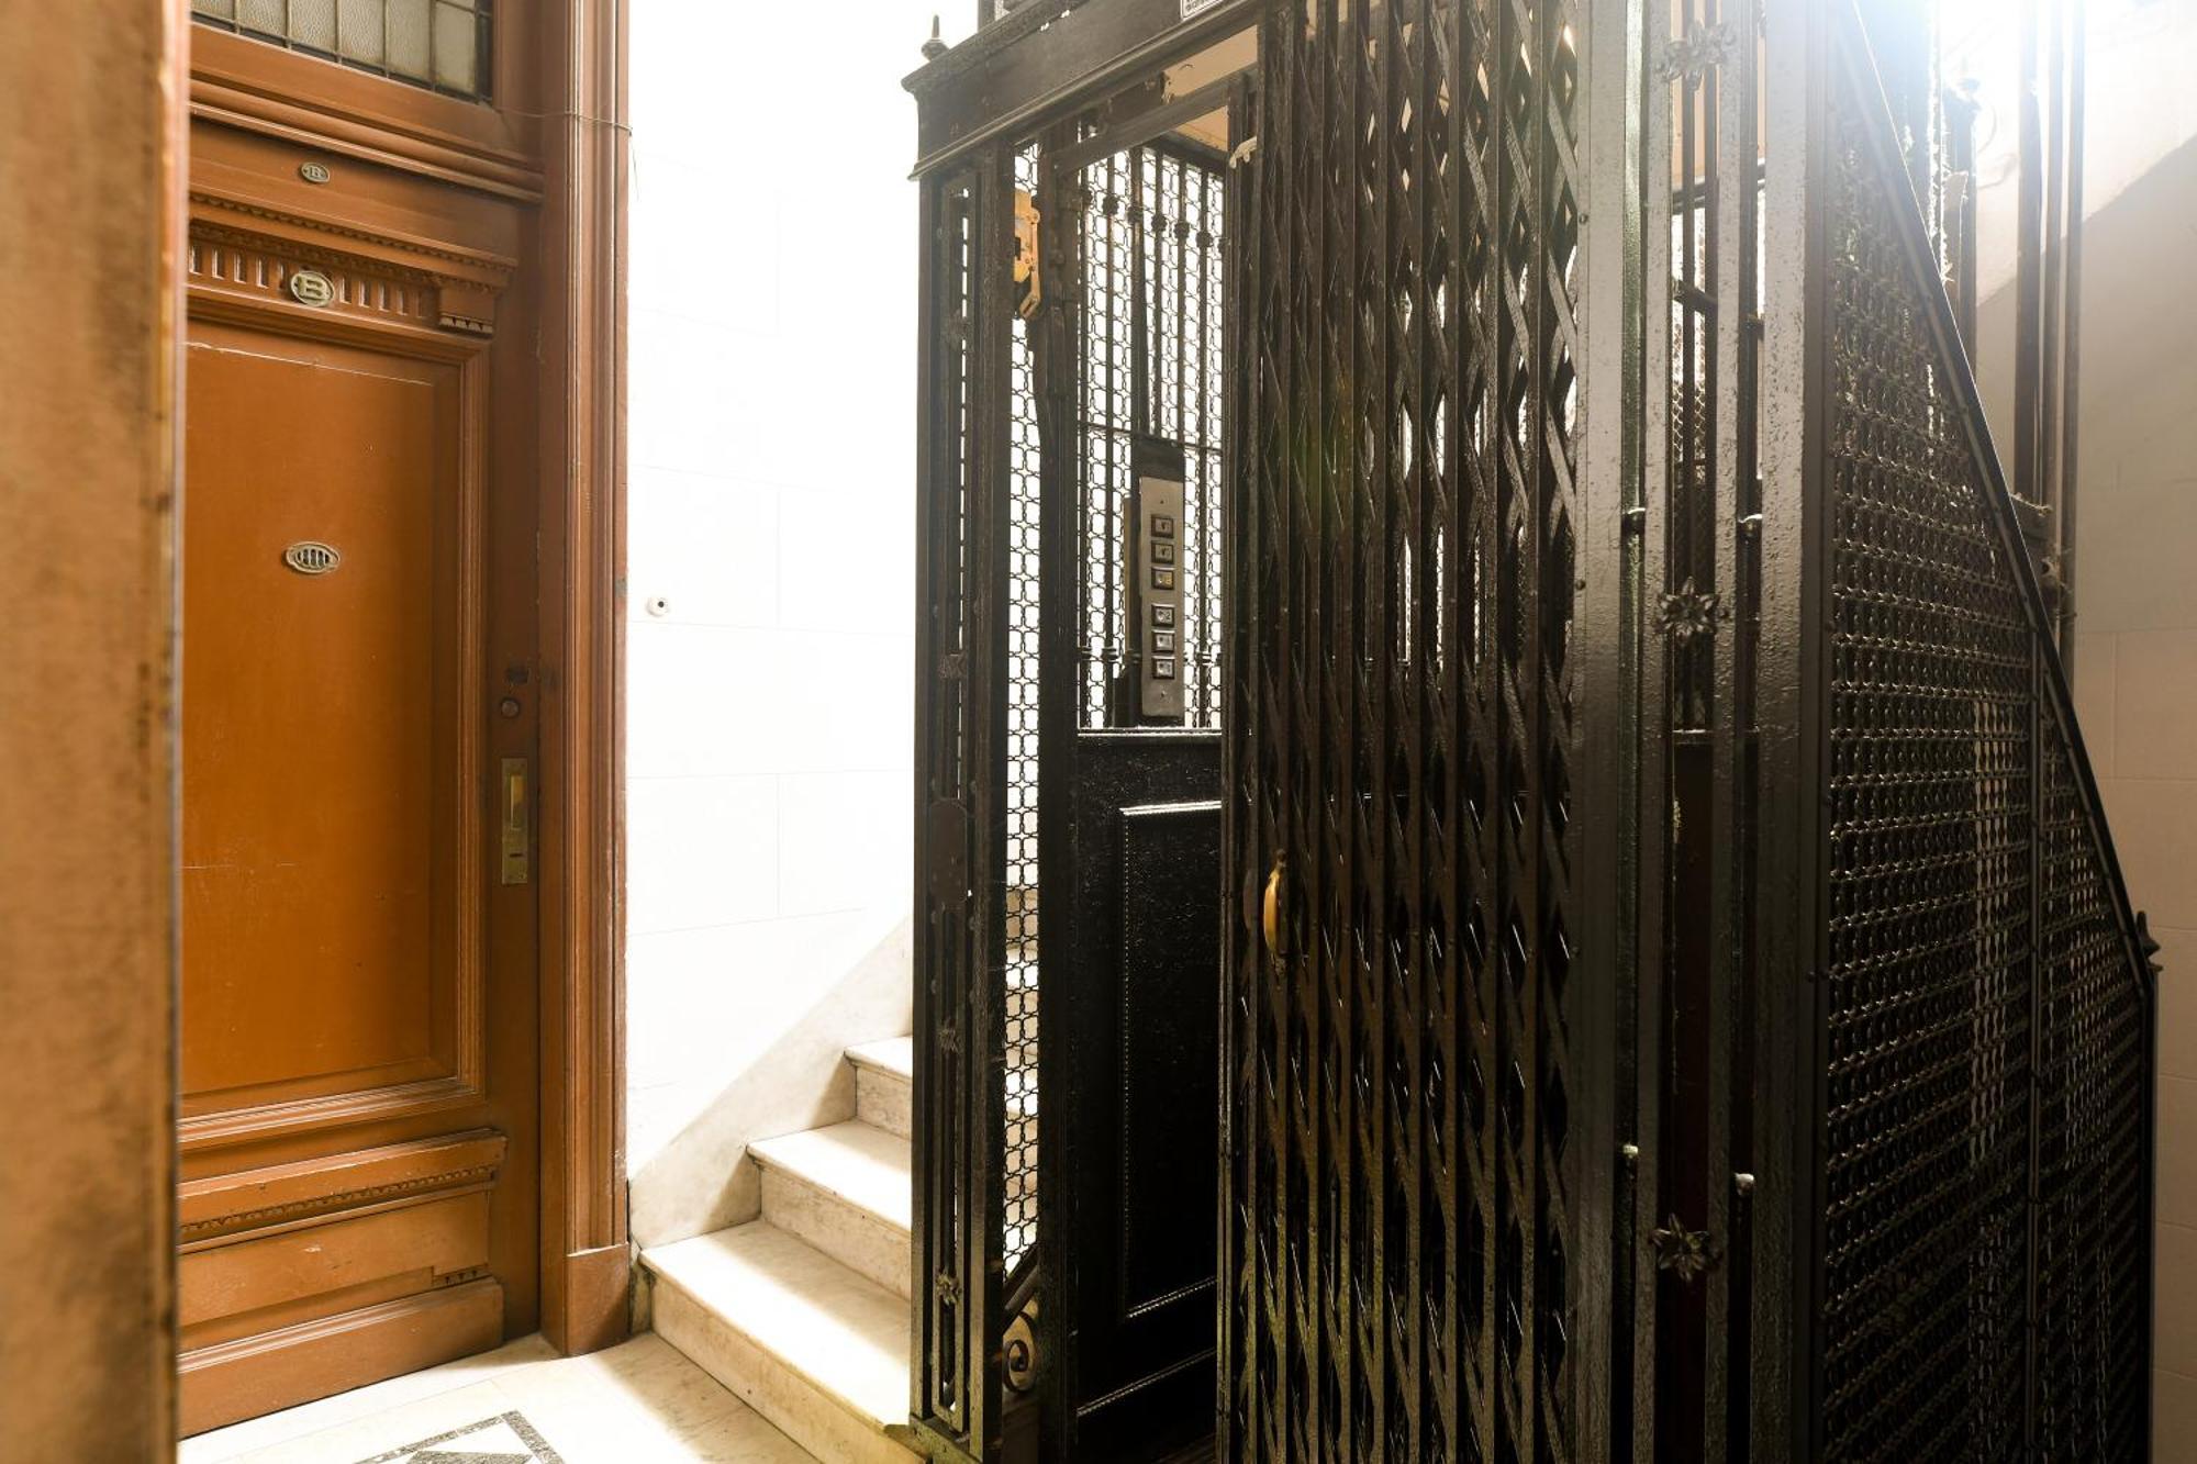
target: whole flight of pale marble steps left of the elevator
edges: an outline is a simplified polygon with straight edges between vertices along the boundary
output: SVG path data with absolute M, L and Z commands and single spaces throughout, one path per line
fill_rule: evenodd
M 848 1049 L 855 1119 L 747 1147 L 762 1218 L 642 1251 L 655 1330 L 830 1464 L 905 1464 L 914 1040 Z

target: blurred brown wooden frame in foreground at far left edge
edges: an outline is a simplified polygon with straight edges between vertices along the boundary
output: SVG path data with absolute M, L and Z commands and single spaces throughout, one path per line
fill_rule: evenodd
M 0 1308 L 0 1460 L 174 1438 L 185 24 L 0 7 L 29 103 L 0 127 L 0 319 L 37 363 L 0 407 L 0 765 L 40 772 L 0 796 L 0 1246 L 68 1288 Z

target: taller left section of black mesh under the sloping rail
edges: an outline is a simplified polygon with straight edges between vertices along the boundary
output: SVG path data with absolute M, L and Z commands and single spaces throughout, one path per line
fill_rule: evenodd
M 1828 1457 L 2004 1460 L 2028 1308 L 2034 648 L 1848 101 L 1826 281 Z

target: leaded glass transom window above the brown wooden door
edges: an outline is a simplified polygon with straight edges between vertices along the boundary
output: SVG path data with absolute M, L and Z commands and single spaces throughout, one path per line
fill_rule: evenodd
M 191 0 L 202 24 L 486 101 L 490 0 Z

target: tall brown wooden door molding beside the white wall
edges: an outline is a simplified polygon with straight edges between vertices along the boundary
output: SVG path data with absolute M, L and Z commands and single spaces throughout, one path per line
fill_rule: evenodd
M 543 24 L 543 1332 L 631 1334 L 624 1031 L 626 4 Z

